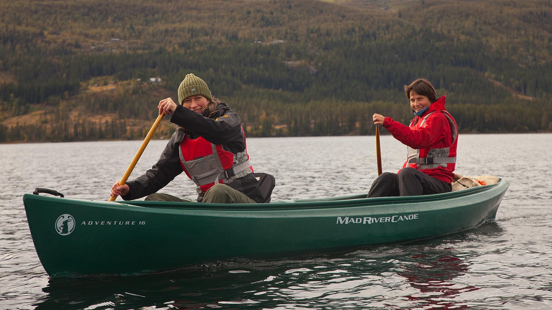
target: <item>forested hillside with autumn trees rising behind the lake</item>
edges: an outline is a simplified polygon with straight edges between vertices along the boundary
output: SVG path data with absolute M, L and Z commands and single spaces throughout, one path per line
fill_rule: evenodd
M 551 20 L 547 0 L 1 2 L 0 142 L 143 138 L 190 72 L 248 136 L 408 122 L 416 77 L 461 132 L 552 131 Z

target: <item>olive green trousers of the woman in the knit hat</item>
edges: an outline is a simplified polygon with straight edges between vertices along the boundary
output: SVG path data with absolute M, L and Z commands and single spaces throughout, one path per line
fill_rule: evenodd
M 148 195 L 145 200 L 195 202 L 163 193 Z M 226 184 L 213 185 L 205 192 L 205 196 L 201 202 L 206 202 L 208 204 L 256 204 L 250 197 L 247 197 L 241 191 L 235 190 Z

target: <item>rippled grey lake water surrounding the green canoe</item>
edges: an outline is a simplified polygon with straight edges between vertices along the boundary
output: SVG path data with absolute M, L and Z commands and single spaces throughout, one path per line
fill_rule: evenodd
M 367 193 L 375 137 L 250 138 L 273 199 Z M 510 187 L 496 222 L 401 245 L 300 259 L 232 259 L 167 274 L 50 280 L 22 196 L 35 188 L 107 200 L 141 141 L 0 145 L 0 309 L 549 309 L 552 308 L 552 135 L 461 135 L 457 173 Z M 151 141 L 130 179 L 156 162 Z M 381 137 L 383 170 L 406 147 Z M 161 192 L 195 199 L 184 174 Z

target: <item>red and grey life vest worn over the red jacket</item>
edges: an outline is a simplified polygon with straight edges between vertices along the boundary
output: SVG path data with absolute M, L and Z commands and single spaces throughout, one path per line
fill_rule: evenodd
M 452 181 L 452 174 L 456 166 L 456 149 L 458 144 L 458 125 L 452 115 L 445 110 L 432 111 L 422 118 L 412 120 L 410 128 L 419 129 L 433 113 L 443 113 L 443 115 L 447 117 L 450 133 L 452 135 L 452 144 L 450 147 L 437 147 L 436 145 L 431 145 L 422 149 L 407 147 L 408 158 L 405 167 L 423 170 L 427 175 L 442 181 L 450 182 Z M 443 174 L 447 175 L 446 179 L 443 179 Z

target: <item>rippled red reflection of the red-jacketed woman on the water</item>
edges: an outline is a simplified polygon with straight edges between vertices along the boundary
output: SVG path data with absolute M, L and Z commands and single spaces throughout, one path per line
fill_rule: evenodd
M 479 287 L 450 280 L 464 275 L 469 270 L 469 265 L 453 254 L 442 254 L 410 256 L 411 264 L 405 265 L 405 270 L 398 271 L 397 275 L 408 279 L 418 293 L 405 297 L 411 301 L 423 302 L 424 308 L 429 305 L 437 306 L 439 309 L 468 308 L 467 304 L 458 304 L 454 301 L 454 297 L 460 293 L 479 290 Z

